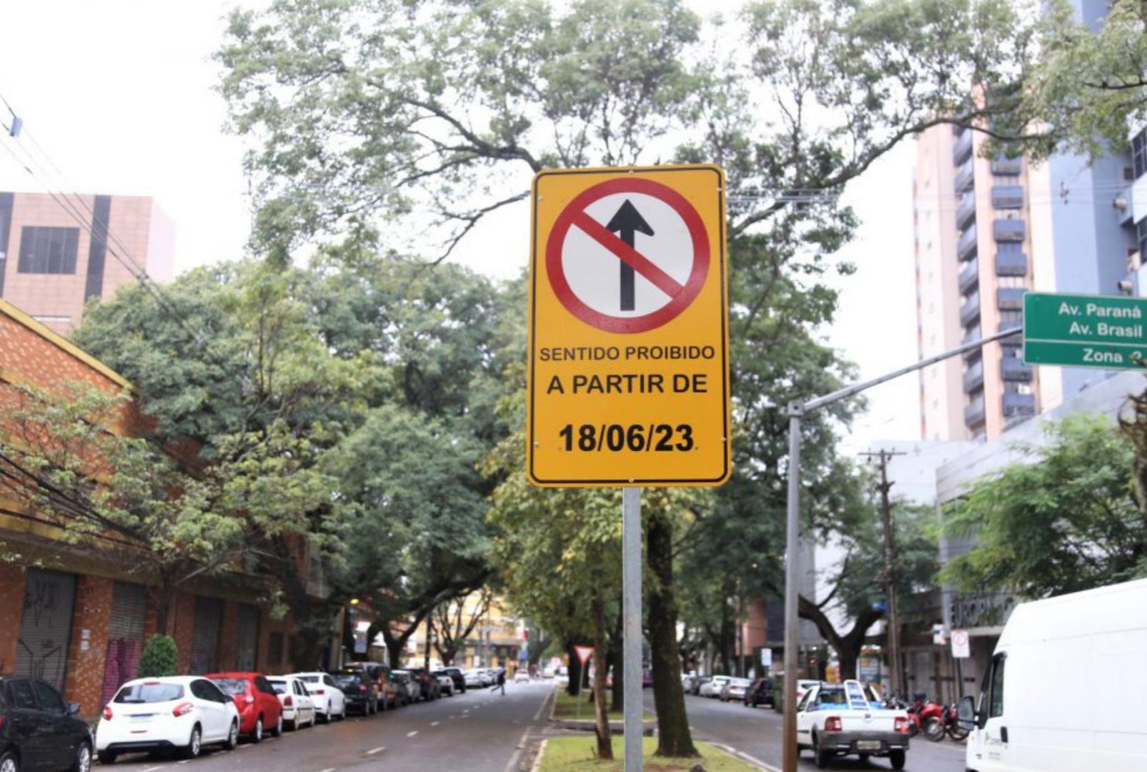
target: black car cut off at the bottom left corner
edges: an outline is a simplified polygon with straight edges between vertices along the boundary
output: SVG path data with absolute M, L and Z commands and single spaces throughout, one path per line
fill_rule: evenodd
M 0 772 L 89 772 L 92 731 L 54 688 L 32 678 L 0 678 Z

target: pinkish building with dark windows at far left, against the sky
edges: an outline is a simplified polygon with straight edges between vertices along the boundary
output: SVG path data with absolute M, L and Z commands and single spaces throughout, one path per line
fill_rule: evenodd
M 89 298 L 135 281 L 133 271 L 163 282 L 174 268 L 174 224 L 150 197 L 71 198 L 86 227 L 47 194 L 0 193 L 0 298 L 62 334 Z

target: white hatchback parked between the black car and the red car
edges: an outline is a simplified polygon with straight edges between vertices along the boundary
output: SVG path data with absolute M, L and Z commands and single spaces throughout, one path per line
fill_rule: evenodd
M 195 758 L 203 746 L 239 744 L 239 710 L 218 686 L 198 676 L 136 678 L 103 708 L 95 731 L 101 764 L 120 754 L 175 749 Z

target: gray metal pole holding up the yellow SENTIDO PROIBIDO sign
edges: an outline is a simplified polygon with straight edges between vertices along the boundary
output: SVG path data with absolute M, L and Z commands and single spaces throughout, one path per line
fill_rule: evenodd
M 625 772 L 641 772 L 641 489 L 622 489 Z

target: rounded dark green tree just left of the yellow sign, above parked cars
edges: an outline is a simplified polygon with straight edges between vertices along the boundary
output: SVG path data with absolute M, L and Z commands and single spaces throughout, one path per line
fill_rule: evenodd
M 482 446 L 457 423 L 383 405 L 335 449 L 327 469 L 356 504 L 345 524 L 344 567 L 335 583 L 370 593 L 391 665 L 444 602 L 490 578 L 486 507 L 475 466 Z

